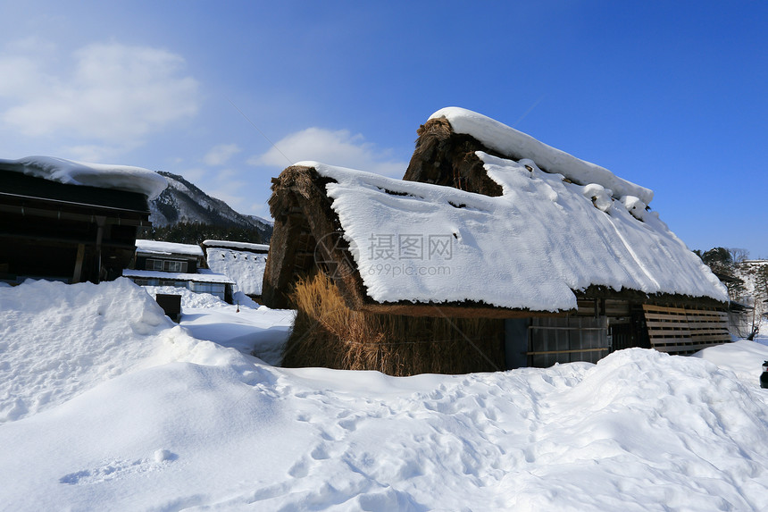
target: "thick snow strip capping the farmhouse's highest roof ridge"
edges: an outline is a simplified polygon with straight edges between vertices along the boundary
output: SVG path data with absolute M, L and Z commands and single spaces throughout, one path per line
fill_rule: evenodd
M 654 197 L 651 189 L 622 180 L 604 167 L 585 162 L 555 147 L 547 146 L 522 131 L 514 130 L 480 113 L 451 106 L 433 113 L 430 119 L 440 117 L 445 117 L 451 123 L 455 133 L 472 135 L 489 149 L 513 157 L 515 160 L 521 158 L 533 160 L 540 169 L 558 172 L 581 185 L 597 183 L 611 190 L 610 195 L 613 197 L 637 197 L 646 205 Z

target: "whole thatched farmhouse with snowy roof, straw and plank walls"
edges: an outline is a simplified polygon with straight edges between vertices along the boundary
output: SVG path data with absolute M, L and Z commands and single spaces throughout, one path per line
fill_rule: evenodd
M 273 180 L 263 283 L 287 365 L 461 373 L 728 341 L 720 281 L 653 193 L 463 109 L 404 180 L 306 162 Z

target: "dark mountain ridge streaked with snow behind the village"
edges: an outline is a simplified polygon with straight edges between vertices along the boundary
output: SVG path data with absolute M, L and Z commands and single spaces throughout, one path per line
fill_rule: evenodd
M 262 233 L 264 240 L 270 239 L 272 222 L 255 215 L 238 214 L 227 203 L 209 196 L 179 174 L 165 171 L 157 173 L 168 180 L 168 188 L 149 202 L 149 220 L 155 228 L 183 222 L 198 223 L 255 229 Z

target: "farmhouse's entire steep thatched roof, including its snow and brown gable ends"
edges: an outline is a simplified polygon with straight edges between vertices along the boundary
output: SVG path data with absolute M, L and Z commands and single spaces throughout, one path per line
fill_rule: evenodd
M 647 211 L 652 191 L 479 114 L 438 113 L 419 130 L 405 180 L 314 162 L 273 180 L 268 306 L 288 306 L 291 284 L 317 267 L 349 307 L 377 313 L 530 316 L 572 311 L 585 297 L 727 301 Z

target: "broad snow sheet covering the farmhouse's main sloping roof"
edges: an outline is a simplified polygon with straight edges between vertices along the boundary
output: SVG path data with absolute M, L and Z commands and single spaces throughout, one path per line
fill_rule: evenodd
M 574 290 L 593 285 L 728 300 L 638 197 L 617 200 L 604 185 L 578 185 L 531 161 L 477 155 L 500 197 L 316 162 L 290 169 L 330 180 L 324 193 L 365 293 L 380 304 L 473 301 L 555 312 L 575 309 Z

